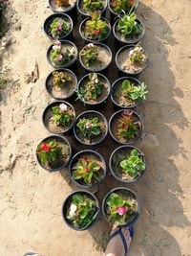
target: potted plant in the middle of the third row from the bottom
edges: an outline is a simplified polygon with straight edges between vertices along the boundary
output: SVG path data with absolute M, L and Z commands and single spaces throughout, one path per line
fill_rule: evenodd
M 106 118 L 99 112 L 89 110 L 81 113 L 75 120 L 74 136 L 84 145 L 96 145 L 108 133 Z

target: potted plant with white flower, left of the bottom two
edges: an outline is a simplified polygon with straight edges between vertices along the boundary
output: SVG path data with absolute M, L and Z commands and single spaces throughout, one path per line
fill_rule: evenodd
M 99 203 L 94 194 L 77 190 L 64 201 L 62 217 L 69 227 L 77 231 L 91 229 L 98 221 Z

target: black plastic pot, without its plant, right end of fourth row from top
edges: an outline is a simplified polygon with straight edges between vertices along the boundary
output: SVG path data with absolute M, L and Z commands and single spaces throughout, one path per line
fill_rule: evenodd
M 116 92 L 116 89 L 117 89 L 117 86 L 120 86 L 120 84 L 122 83 L 122 81 L 125 81 L 125 80 L 128 80 L 128 81 L 132 81 L 135 83 L 135 85 L 140 85 L 140 81 L 138 81 L 137 79 L 135 78 L 132 78 L 132 77 L 123 77 L 123 78 L 119 78 L 117 79 L 117 81 L 115 81 L 113 84 L 112 84 L 112 91 L 111 91 L 111 100 L 113 102 L 113 104 L 118 108 L 125 108 L 125 109 L 131 109 L 131 108 L 134 108 L 136 106 L 138 106 L 140 104 L 140 102 L 137 102 L 135 105 L 129 105 L 129 106 L 124 106 L 124 105 L 119 105 L 117 104 L 117 101 L 115 100 L 115 97 L 114 97 L 114 94 Z

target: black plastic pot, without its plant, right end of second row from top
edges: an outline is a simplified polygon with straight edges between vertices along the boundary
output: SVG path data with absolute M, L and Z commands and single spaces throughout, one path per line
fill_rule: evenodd
M 117 21 L 115 22 L 115 25 L 113 27 L 113 34 L 114 34 L 114 36 L 115 36 L 115 38 L 117 40 L 116 44 L 120 44 L 120 45 L 124 45 L 124 44 L 137 44 L 143 38 L 143 36 L 145 34 L 145 28 L 144 28 L 143 22 L 139 18 L 136 19 L 136 21 L 142 27 L 142 31 L 141 31 L 140 35 L 138 35 L 135 38 L 126 38 L 126 39 L 123 40 L 123 39 L 121 39 L 121 38 L 119 38 L 117 36 L 117 24 L 118 24 L 119 20 L 120 20 L 120 18 L 117 19 Z

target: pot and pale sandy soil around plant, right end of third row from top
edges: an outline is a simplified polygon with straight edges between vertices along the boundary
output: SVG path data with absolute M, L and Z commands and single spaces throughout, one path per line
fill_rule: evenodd
M 138 75 L 140 74 L 148 64 L 148 57 L 144 51 L 146 59 L 141 64 L 133 63 L 130 60 L 129 53 L 134 48 L 135 45 L 126 45 L 123 46 L 118 52 L 116 56 L 117 68 L 128 75 Z

